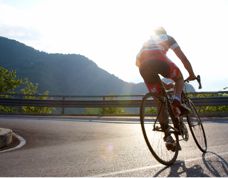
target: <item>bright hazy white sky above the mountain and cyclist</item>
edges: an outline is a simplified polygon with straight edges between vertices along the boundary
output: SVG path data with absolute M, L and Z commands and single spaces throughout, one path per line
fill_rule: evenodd
M 127 82 L 143 81 L 135 57 L 151 29 L 163 26 L 201 75 L 204 91 L 228 87 L 227 18 L 227 0 L 0 0 L 0 36 L 48 53 L 84 55 Z M 187 77 L 172 51 L 168 56 Z

